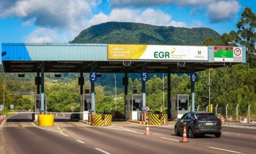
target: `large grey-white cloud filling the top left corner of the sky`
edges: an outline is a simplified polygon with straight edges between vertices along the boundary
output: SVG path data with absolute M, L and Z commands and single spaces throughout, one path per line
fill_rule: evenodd
M 69 28 L 82 24 L 101 0 L 1 0 L 0 17 L 35 19 L 41 27 Z

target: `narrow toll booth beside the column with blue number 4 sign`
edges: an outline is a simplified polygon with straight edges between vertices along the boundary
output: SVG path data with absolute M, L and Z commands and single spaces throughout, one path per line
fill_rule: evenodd
M 91 111 L 91 94 L 81 95 L 81 104 L 80 104 L 80 119 L 88 121 L 88 114 Z

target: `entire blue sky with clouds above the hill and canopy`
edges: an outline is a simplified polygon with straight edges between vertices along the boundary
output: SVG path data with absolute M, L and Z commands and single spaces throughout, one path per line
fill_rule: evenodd
M 68 43 L 108 21 L 229 33 L 245 7 L 256 0 L 0 0 L 0 43 Z

